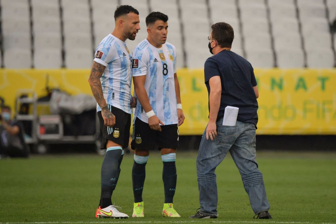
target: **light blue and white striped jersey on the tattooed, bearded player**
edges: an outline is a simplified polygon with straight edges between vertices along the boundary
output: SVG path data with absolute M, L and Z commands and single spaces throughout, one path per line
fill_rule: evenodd
M 131 101 L 131 65 L 132 55 L 126 42 L 109 34 L 98 45 L 94 61 L 106 66 L 100 78 L 106 103 L 132 114 Z M 97 111 L 101 108 L 97 103 Z

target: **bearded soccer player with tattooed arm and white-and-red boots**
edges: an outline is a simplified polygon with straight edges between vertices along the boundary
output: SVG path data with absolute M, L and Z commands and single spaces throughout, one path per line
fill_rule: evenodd
M 90 87 L 97 101 L 97 114 L 102 133 L 101 149 L 107 149 L 101 165 L 101 195 L 97 218 L 128 218 L 112 205 L 120 164 L 128 146 L 132 108 L 132 55 L 126 39 L 134 40 L 140 30 L 139 12 L 129 5 L 117 7 L 115 29 L 98 45 L 91 74 Z

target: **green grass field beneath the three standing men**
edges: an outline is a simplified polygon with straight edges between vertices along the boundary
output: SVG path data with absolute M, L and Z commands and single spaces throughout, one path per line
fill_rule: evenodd
M 199 208 L 196 152 L 177 154 L 174 208 L 182 218 L 161 216 L 162 162 L 158 152 L 146 166 L 144 218 L 96 219 L 100 166 L 95 154 L 33 155 L 0 160 L 1 223 L 336 223 L 335 152 L 257 152 L 272 220 L 255 220 L 237 168 L 228 155 L 217 168 L 218 219 L 190 220 Z M 112 201 L 132 215 L 133 155 L 125 155 Z

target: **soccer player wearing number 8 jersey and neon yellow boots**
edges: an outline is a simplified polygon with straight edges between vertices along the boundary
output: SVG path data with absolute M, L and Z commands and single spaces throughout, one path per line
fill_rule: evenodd
M 178 126 L 184 121 L 176 75 L 176 49 L 166 42 L 168 16 L 152 12 L 146 17 L 148 37 L 133 51 L 132 76 L 137 96 L 133 116 L 134 164 L 132 217 L 143 217 L 142 190 L 150 150 L 161 150 L 165 201 L 164 217 L 181 217 L 173 208 L 176 188 Z

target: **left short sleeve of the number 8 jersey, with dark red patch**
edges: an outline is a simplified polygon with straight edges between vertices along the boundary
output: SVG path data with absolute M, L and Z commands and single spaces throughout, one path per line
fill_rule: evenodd
M 139 48 L 133 51 L 132 55 L 132 76 L 145 76 L 147 74 L 148 56 Z

